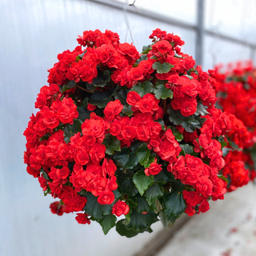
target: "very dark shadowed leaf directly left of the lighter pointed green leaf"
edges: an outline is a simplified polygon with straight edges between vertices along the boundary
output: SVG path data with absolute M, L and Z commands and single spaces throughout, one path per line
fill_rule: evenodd
M 122 170 L 116 171 L 118 178 L 118 188 L 122 194 L 128 194 L 133 197 L 138 193 L 138 190 L 133 182 L 134 170 L 126 170 L 126 173 L 123 173 Z

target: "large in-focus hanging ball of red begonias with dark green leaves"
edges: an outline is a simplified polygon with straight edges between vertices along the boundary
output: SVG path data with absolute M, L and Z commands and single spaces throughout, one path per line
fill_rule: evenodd
M 157 29 L 150 38 L 139 54 L 109 30 L 85 31 L 58 55 L 24 132 L 27 172 L 59 198 L 51 212 L 75 212 L 105 234 L 116 226 L 132 237 L 159 219 L 206 212 L 223 199 L 225 176 L 246 182 L 242 163 L 223 170 L 227 143 L 251 137 L 214 106 L 214 74 L 194 67 L 177 35 Z

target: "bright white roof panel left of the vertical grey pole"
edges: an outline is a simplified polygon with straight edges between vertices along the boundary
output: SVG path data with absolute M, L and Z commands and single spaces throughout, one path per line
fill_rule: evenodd
M 114 0 L 132 4 L 134 0 Z M 113 2 L 114 2 L 113 1 Z M 149 10 L 169 18 L 195 24 L 197 20 L 197 0 L 136 0 L 134 6 L 138 9 Z

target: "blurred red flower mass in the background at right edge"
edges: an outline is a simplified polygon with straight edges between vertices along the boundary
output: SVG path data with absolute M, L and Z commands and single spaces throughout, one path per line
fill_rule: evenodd
M 232 139 L 226 155 L 223 175 L 230 179 L 228 190 L 236 190 L 255 178 L 256 142 L 256 76 L 252 62 L 238 62 L 222 71 L 216 66 L 211 71 L 218 80 L 218 104 L 232 116 L 233 127 L 227 134 Z M 238 96 L 239 95 L 239 96 Z

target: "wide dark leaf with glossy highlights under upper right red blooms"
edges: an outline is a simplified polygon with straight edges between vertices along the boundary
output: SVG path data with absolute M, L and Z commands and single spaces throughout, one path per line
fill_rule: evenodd
M 206 122 L 206 118 L 200 118 L 194 114 L 184 117 L 179 110 L 173 110 L 172 107 L 167 112 L 170 122 L 173 122 L 175 126 L 181 125 L 189 133 L 193 133 L 197 128 L 202 128 L 203 123 Z

